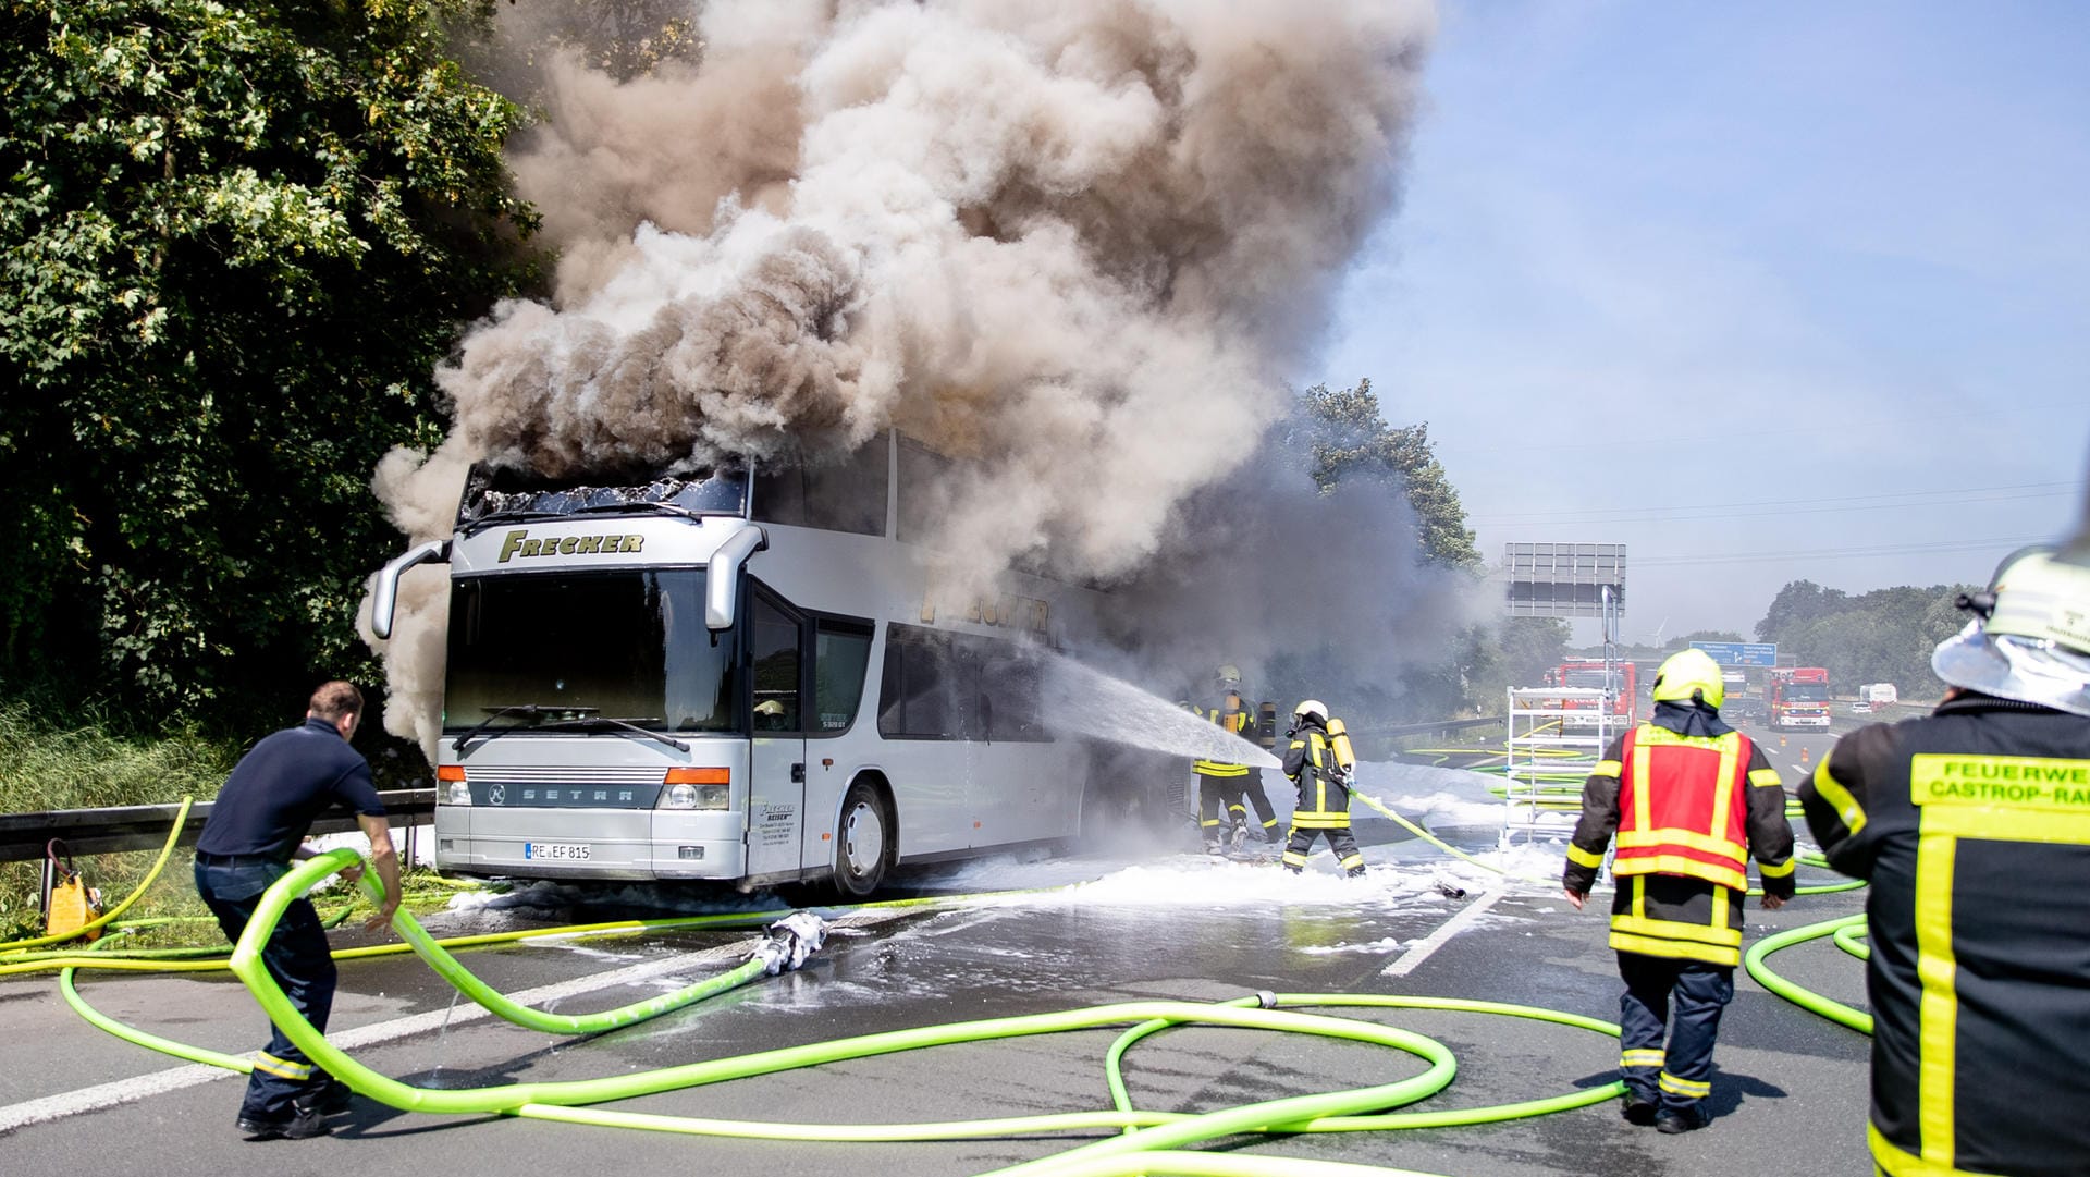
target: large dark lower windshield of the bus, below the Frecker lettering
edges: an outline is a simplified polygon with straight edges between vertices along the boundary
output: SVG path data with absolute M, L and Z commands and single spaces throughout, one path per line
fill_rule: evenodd
M 663 732 L 738 732 L 734 640 L 704 627 L 704 571 L 460 577 L 449 592 L 443 730 L 589 709 Z

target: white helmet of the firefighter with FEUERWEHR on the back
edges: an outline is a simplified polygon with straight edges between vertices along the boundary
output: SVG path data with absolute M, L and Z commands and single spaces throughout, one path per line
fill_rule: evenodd
M 1952 686 L 2090 715 L 2090 567 L 2052 548 L 2019 548 L 1988 587 L 1954 602 L 1973 613 L 1931 652 Z

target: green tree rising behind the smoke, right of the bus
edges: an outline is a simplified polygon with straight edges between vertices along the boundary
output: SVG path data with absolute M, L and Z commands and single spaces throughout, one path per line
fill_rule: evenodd
M 1415 512 L 1417 539 L 1430 560 L 1480 569 L 1459 491 L 1430 449 L 1427 422 L 1386 424 L 1369 378 L 1342 391 L 1315 385 L 1300 395 L 1300 408 L 1306 410 L 1313 481 L 1323 493 L 1352 479 L 1396 487 Z

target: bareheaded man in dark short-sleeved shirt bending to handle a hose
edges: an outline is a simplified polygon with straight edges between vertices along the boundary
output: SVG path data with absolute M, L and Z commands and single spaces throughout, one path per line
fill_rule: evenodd
M 370 930 L 389 924 L 399 909 L 399 855 L 385 824 L 385 803 L 370 780 L 370 763 L 349 746 L 362 715 L 364 696 L 353 684 L 322 684 L 311 692 L 303 725 L 265 736 L 226 778 L 196 840 L 196 895 L 230 941 L 238 943 L 261 893 L 291 872 L 291 859 L 311 857 L 305 832 L 336 803 L 355 809 L 355 824 L 370 838 L 370 861 L 385 884 L 385 905 L 370 918 Z M 362 868 L 343 876 L 355 882 Z M 261 962 L 291 1003 L 326 1031 L 334 1006 L 334 957 L 311 901 L 297 899 L 284 909 Z M 255 1054 L 238 1129 L 249 1139 L 307 1139 L 326 1135 L 326 1116 L 347 1106 L 349 1089 L 318 1070 L 278 1029 Z

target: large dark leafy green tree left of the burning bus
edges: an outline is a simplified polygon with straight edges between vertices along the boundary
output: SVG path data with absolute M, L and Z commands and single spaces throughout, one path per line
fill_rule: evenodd
M 372 682 L 368 491 L 531 278 L 487 0 L 15 0 L 0 36 L 0 675 L 274 723 Z M 257 717 L 259 715 L 259 717 Z

